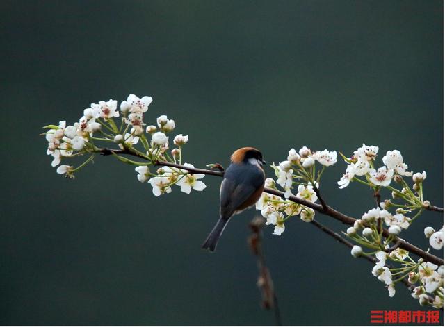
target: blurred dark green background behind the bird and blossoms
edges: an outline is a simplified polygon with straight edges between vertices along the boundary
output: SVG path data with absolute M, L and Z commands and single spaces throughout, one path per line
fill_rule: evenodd
M 442 1 L 1 1 L 0 324 L 268 325 L 248 221 L 233 219 L 213 255 L 220 178 L 204 192 L 155 198 L 133 168 L 97 158 L 74 181 L 56 174 L 41 126 L 77 121 L 90 103 L 150 95 L 145 121 L 175 119 L 185 158 L 227 166 L 240 146 L 268 162 L 291 147 L 399 149 L 443 199 Z M 374 206 L 346 165 L 326 200 L 355 217 Z M 268 176 L 273 171 L 267 171 Z M 386 194 L 388 195 L 388 194 Z M 385 198 L 385 196 L 384 196 Z M 316 219 L 336 230 L 337 221 Z M 403 237 L 426 248 L 427 213 Z M 341 244 L 293 219 L 267 228 L 266 258 L 284 324 L 369 324 L 390 299 Z M 434 250 L 433 250 L 434 251 Z M 435 251 L 439 255 L 439 251 Z

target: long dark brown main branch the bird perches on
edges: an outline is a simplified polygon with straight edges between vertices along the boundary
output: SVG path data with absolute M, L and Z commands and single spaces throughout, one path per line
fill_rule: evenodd
M 104 156 L 108 156 L 111 155 L 113 153 L 116 154 L 128 154 L 131 156 L 136 156 L 138 158 L 143 158 L 145 160 L 149 160 L 149 158 L 147 156 L 144 156 L 143 154 L 140 154 L 136 151 L 133 151 L 132 149 L 97 149 L 98 153 L 103 154 Z M 156 162 L 154 162 L 154 165 L 156 166 L 168 166 L 168 167 L 175 167 L 175 168 L 179 168 L 179 169 L 184 169 L 187 171 L 190 171 L 191 174 L 206 174 L 206 175 L 213 175 L 213 176 L 220 176 L 223 177 L 224 176 L 224 172 L 223 171 L 215 171 L 215 170 L 210 170 L 210 169 L 200 169 L 200 168 L 191 168 L 191 167 L 185 167 L 183 165 L 178 165 L 172 162 L 166 162 L 166 161 L 160 161 L 160 160 L 156 160 Z M 314 189 L 315 190 L 315 189 Z M 284 199 L 284 192 L 281 192 L 279 190 L 275 190 L 272 188 L 268 188 L 265 187 L 264 188 L 264 192 L 268 193 L 268 194 L 273 194 L 273 195 L 277 195 L 280 196 Z M 318 196 L 319 197 L 319 196 Z M 333 209 L 330 206 L 327 206 L 327 204 L 325 203 L 325 206 L 323 206 L 322 204 L 318 204 L 318 203 L 313 203 L 311 201 L 307 201 L 305 199 L 300 199 L 297 196 L 289 196 L 288 198 L 289 200 L 301 204 L 302 206 L 306 206 L 308 208 L 312 208 L 317 212 L 322 213 L 323 215 L 327 215 L 330 216 L 334 219 L 337 219 L 338 221 L 341 221 L 343 224 L 349 225 L 349 226 L 353 226 L 355 221 L 357 219 L 350 217 L 348 215 L 343 214 L 342 212 L 339 212 L 335 209 Z M 432 206 L 434 207 L 434 206 Z M 437 209 L 440 209 L 439 207 L 435 207 Z M 443 210 L 443 209 L 442 209 Z M 437 210 L 439 211 L 439 210 Z M 387 229 L 383 228 L 382 230 L 382 234 L 385 235 L 386 237 L 389 236 L 389 232 Z M 415 255 L 418 255 L 419 257 L 423 258 L 426 261 L 432 262 L 435 265 L 439 265 L 442 266 L 444 265 L 444 260 L 441 258 L 438 258 L 435 255 L 432 255 L 426 251 L 423 251 L 422 249 L 418 248 L 417 246 L 414 246 L 408 242 L 405 242 L 403 240 L 401 240 L 400 238 L 394 236 L 394 243 L 399 243 L 399 247 L 401 247 L 402 249 L 405 249 L 411 253 L 414 253 Z

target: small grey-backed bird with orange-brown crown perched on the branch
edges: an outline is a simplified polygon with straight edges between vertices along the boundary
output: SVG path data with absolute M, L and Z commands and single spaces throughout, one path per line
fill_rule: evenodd
M 253 206 L 264 190 L 263 155 L 257 149 L 245 147 L 230 157 L 231 164 L 220 187 L 220 219 L 202 244 L 203 249 L 215 251 L 229 219 Z

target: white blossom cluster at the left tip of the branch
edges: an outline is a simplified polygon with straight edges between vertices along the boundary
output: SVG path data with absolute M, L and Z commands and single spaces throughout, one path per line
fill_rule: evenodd
M 120 103 L 110 99 L 109 101 L 99 101 L 91 103 L 90 108 L 83 110 L 83 116 L 79 122 L 72 126 L 67 126 L 65 121 L 60 121 L 58 126 L 45 126 L 48 131 L 44 134 L 48 141 L 47 154 L 53 157 L 51 165 L 60 165 L 63 158 L 72 158 L 83 154 L 90 154 L 90 158 L 79 167 L 70 165 L 60 165 L 57 168 L 58 174 L 74 178 L 74 172 L 84 167 L 92 161 L 95 153 L 101 151 L 97 146 L 99 142 L 111 142 L 118 144 L 122 153 L 131 153 L 147 160 L 147 162 L 136 162 L 112 153 L 116 158 L 130 165 L 136 165 L 137 178 L 140 182 L 148 182 L 152 185 L 153 194 L 170 193 L 172 185 L 181 187 L 181 192 L 189 194 L 191 190 L 202 191 L 206 187 L 202 181 L 203 174 L 190 174 L 186 169 L 172 167 L 162 167 L 152 173 L 150 165 L 155 165 L 157 161 L 172 162 L 182 164 L 182 146 L 188 142 L 188 135 L 178 134 L 173 139 L 174 149 L 168 152 L 168 133 L 175 129 L 175 121 L 166 115 L 161 115 L 156 119 L 156 126 L 149 125 L 144 129 L 144 115 L 148 106 L 152 103 L 152 97 L 139 98 L 130 94 L 127 100 Z M 115 119 L 120 118 L 120 127 Z M 136 149 L 137 144 L 142 144 L 143 149 Z M 185 167 L 193 168 L 193 165 L 185 163 Z

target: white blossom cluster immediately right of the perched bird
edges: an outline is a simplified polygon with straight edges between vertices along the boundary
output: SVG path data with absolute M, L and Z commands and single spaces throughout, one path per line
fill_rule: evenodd
M 321 165 L 321 170 L 317 170 L 317 162 Z M 293 196 L 296 188 L 296 197 L 316 202 L 318 199 L 316 190 L 321 175 L 325 167 L 332 166 L 335 162 L 337 162 L 336 151 L 313 152 L 307 146 L 303 146 L 298 152 L 295 149 L 289 150 L 287 160 L 280 162 L 277 166 L 271 166 L 275 170 L 277 181 L 267 178 L 265 187 L 277 189 L 277 185 L 280 185 L 284 190 L 284 199 L 280 196 L 263 193 L 256 208 L 261 210 L 261 215 L 266 218 L 266 225 L 275 226 L 274 235 L 281 235 L 284 232 L 284 222 L 290 217 L 300 215 L 302 221 L 311 222 L 314 220 L 314 209 L 295 203 L 289 198 Z

